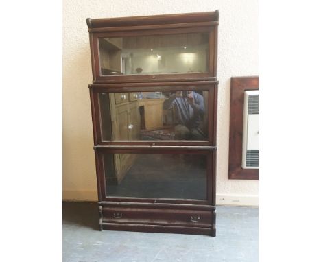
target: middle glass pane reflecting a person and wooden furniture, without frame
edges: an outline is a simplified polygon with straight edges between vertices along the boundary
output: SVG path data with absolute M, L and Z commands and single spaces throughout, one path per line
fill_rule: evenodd
M 99 93 L 103 141 L 208 140 L 209 91 Z

